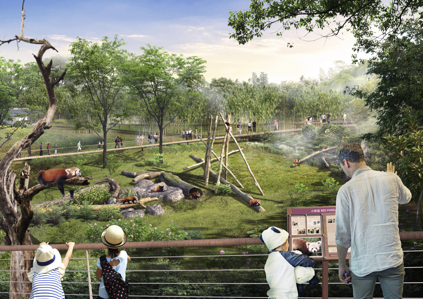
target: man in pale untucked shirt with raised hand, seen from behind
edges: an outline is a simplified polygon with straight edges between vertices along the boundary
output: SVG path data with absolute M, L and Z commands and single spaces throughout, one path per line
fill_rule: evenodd
M 351 177 L 336 196 L 335 243 L 338 276 L 352 282 L 354 298 L 373 298 L 376 278 L 384 298 L 402 298 L 404 261 L 398 233 L 398 204 L 407 204 L 411 192 L 396 175 L 366 166 L 358 143 L 343 146 L 338 154 L 341 168 Z M 351 247 L 349 267 L 346 255 Z

